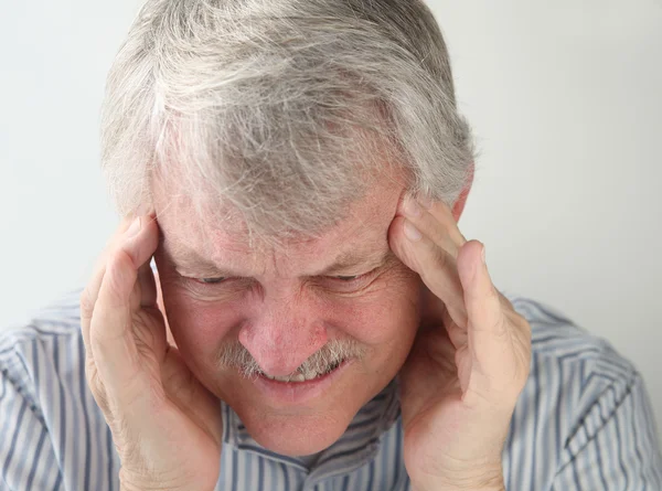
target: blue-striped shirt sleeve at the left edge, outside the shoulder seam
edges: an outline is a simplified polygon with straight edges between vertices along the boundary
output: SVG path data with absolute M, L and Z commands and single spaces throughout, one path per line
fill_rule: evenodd
M 47 427 L 13 350 L 0 353 L 0 490 L 60 490 L 62 477 Z

